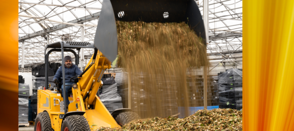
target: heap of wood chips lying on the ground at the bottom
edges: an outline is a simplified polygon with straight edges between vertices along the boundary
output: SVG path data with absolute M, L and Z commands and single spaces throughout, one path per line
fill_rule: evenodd
M 233 109 L 198 110 L 193 115 L 179 118 L 137 120 L 121 129 L 100 127 L 97 130 L 242 130 L 242 111 Z

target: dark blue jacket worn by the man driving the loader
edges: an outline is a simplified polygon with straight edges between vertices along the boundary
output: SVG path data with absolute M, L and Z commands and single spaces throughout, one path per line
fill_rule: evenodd
M 65 65 L 64 65 L 65 66 Z M 80 75 L 82 71 L 77 65 L 72 65 L 70 68 L 64 67 L 64 73 L 65 73 L 65 83 L 71 82 L 71 77 Z M 62 83 L 62 66 L 59 67 L 59 69 L 56 71 L 56 74 L 54 75 L 53 81 L 57 78 L 57 80 L 61 80 Z

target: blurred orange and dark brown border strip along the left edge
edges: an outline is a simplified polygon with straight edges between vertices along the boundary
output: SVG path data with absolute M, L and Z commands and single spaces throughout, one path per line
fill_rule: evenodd
M 18 1 L 0 5 L 0 130 L 18 130 Z

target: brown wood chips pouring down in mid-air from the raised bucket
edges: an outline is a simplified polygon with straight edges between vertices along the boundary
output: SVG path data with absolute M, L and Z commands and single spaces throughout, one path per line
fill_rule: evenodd
M 117 64 L 131 74 L 131 98 L 140 95 L 131 99 L 131 109 L 141 118 L 167 118 L 178 113 L 177 107 L 185 107 L 182 115 L 188 116 L 186 72 L 208 66 L 203 39 L 185 22 L 117 21 L 117 33 Z

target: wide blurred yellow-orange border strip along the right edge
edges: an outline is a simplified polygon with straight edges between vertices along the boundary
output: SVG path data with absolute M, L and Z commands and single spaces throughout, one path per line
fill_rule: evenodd
M 243 130 L 294 130 L 294 1 L 243 1 Z

